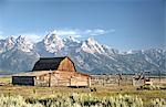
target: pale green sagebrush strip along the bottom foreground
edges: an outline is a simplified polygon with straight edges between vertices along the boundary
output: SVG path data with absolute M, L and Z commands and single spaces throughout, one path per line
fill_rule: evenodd
M 46 98 L 0 96 L 0 107 L 143 107 L 142 98 L 129 95 L 96 97 L 91 94 L 54 94 Z M 165 99 L 153 99 L 149 107 L 166 107 Z

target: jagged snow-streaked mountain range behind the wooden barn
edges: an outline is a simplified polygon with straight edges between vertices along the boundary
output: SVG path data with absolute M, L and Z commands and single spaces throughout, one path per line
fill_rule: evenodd
M 166 73 L 166 50 L 148 49 L 120 52 L 93 38 L 79 41 L 50 32 L 40 42 L 25 36 L 0 40 L 0 71 L 19 73 L 31 71 L 40 57 L 70 56 L 77 68 L 90 74 Z

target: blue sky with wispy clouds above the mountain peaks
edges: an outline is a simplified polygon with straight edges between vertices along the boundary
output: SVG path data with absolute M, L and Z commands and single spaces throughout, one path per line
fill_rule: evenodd
M 165 0 L 0 0 L 0 35 L 44 36 L 50 30 L 112 47 L 165 44 Z M 39 36 L 38 36 L 39 35 Z

